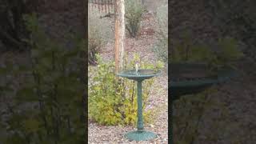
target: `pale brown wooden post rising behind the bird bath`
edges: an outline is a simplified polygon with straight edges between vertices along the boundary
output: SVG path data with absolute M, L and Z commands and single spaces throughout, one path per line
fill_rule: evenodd
M 115 73 L 117 74 L 123 67 L 124 39 L 125 39 L 125 2 L 115 0 L 115 25 L 114 25 L 114 59 Z

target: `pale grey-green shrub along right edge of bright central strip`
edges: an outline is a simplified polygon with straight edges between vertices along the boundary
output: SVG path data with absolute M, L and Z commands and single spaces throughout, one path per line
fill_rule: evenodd
M 155 17 L 158 22 L 158 39 L 153 46 L 153 51 L 162 62 L 168 62 L 168 6 L 160 6 Z

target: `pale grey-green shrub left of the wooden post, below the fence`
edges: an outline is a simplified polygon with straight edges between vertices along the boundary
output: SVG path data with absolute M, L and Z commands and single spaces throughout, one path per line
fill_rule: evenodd
M 114 38 L 114 35 L 107 18 L 100 18 L 101 14 L 94 9 L 88 12 L 88 62 L 90 65 L 95 65 L 96 54 L 99 54 L 102 46 Z

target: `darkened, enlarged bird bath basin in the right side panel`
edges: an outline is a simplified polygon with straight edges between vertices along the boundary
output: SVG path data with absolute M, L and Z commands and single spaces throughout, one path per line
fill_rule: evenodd
M 197 94 L 206 88 L 226 82 L 236 75 L 234 69 L 222 67 L 210 74 L 204 64 L 170 63 L 169 90 L 172 101 L 182 95 Z

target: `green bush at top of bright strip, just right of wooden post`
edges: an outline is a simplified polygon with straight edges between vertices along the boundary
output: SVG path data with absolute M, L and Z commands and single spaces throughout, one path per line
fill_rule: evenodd
M 126 0 L 126 30 L 131 37 L 135 38 L 140 30 L 144 6 L 138 0 Z

